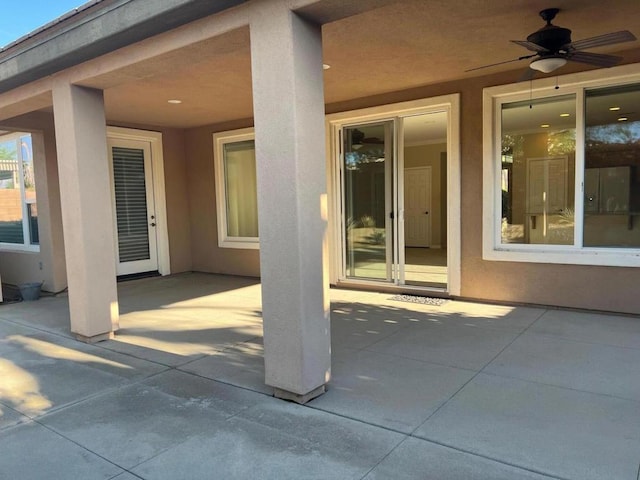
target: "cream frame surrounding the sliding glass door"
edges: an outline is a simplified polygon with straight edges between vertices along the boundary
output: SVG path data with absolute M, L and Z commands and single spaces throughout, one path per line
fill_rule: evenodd
M 460 95 L 451 94 L 409 102 L 382 105 L 364 108 L 348 112 L 336 113 L 326 116 L 326 148 L 327 148 L 327 191 L 329 222 L 329 275 L 333 284 L 353 283 L 360 285 L 383 286 L 382 282 L 352 280 L 345 281 L 342 277 L 343 248 L 342 248 L 342 201 L 341 195 L 341 158 L 342 158 L 342 129 L 349 125 L 371 123 L 385 119 L 402 119 L 413 115 L 422 115 L 436 112 L 447 113 L 447 270 L 448 282 L 446 293 L 459 296 L 461 288 L 461 188 L 460 188 Z M 395 148 L 402 151 L 402 136 L 399 135 Z M 397 171 L 403 167 L 402 155 L 398 158 Z M 404 194 L 400 188 L 397 196 Z M 394 208 L 397 206 L 394 205 Z M 397 208 L 396 210 L 397 211 Z M 398 238 L 396 233 L 396 238 Z M 400 239 L 399 239 L 400 240 Z M 403 241 L 403 239 L 402 239 Z M 398 250 L 398 249 L 396 249 Z M 402 250 L 402 249 L 399 249 Z M 401 252 L 402 253 L 402 252 Z M 394 259 L 394 264 L 402 261 L 402 258 Z M 392 286 L 393 284 L 387 286 Z M 403 290 L 434 290 L 428 287 L 401 285 Z M 435 289 L 441 291 L 442 289 Z

